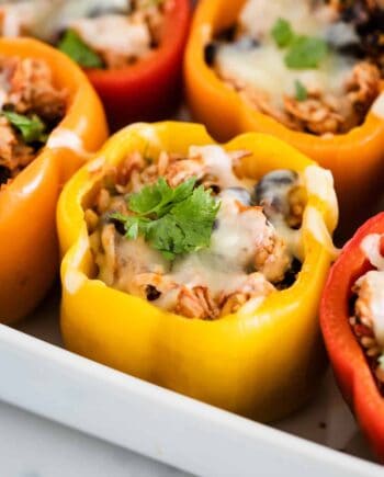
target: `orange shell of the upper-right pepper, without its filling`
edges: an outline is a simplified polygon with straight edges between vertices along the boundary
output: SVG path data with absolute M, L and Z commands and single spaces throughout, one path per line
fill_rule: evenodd
M 365 122 L 348 134 L 315 136 L 291 130 L 255 111 L 207 66 L 204 48 L 223 30 L 236 23 L 245 0 L 201 0 L 193 19 L 184 61 L 185 88 L 193 116 L 219 140 L 257 130 L 291 144 L 330 169 L 341 217 L 341 235 L 350 237 L 365 220 L 382 192 L 384 180 L 384 95 L 376 100 Z M 383 93 L 384 94 L 384 93 Z M 380 110 L 382 110 L 380 112 Z M 223 121 L 225 118 L 225 121 Z

